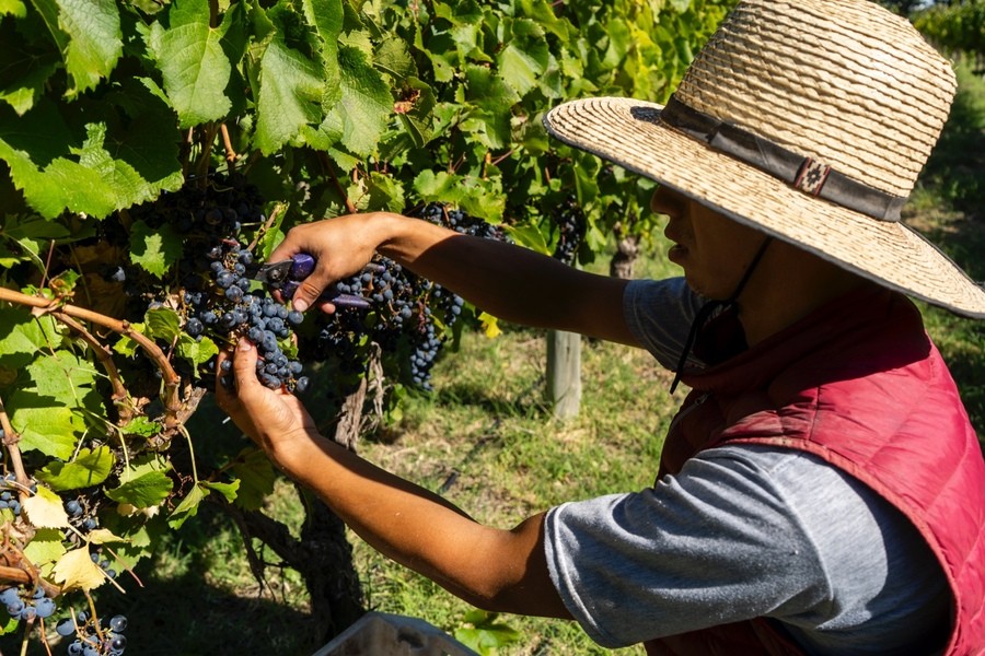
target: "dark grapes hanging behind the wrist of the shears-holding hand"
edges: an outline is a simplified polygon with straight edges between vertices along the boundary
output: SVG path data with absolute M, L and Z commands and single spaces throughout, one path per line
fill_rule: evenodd
M 506 241 L 500 227 L 443 203 L 430 203 L 412 215 L 462 234 Z M 431 368 L 444 330 L 455 325 L 464 307 L 461 296 L 383 257 L 338 281 L 329 292 L 366 298 L 370 311 L 346 308 L 334 318 L 320 318 L 311 352 L 331 359 L 343 374 L 357 374 L 363 367 L 366 344 L 372 342 L 384 356 L 398 361 L 405 383 L 431 389 Z

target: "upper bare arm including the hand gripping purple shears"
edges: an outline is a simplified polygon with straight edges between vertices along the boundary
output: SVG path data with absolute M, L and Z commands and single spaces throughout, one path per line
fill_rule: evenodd
M 311 306 L 326 286 L 380 253 L 503 320 L 638 345 L 623 315 L 627 281 L 579 271 L 520 246 L 373 212 L 294 227 L 270 259 L 301 251 L 317 258 L 317 267 L 294 292 L 296 306 Z

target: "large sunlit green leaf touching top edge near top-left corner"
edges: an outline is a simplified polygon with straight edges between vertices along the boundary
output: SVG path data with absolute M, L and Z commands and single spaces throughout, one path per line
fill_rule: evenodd
M 95 87 L 123 54 L 115 0 L 32 0 L 65 57 L 71 97 Z

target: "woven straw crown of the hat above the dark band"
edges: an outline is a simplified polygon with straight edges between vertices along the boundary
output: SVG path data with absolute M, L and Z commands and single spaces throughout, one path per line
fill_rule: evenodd
M 748 0 L 695 57 L 674 97 L 908 196 L 947 120 L 950 65 L 867 0 Z

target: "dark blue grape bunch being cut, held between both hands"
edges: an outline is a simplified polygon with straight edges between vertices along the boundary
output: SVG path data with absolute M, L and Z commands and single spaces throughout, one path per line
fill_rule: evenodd
M 131 215 L 151 227 L 170 224 L 185 237 L 177 263 L 185 332 L 196 339 L 207 335 L 220 345 L 244 336 L 257 347 L 257 377 L 265 386 L 303 391 L 308 379 L 300 375 L 301 363 L 281 347 L 303 316 L 246 276 L 254 255 L 239 242 L 244 225 L 265 220 L 259 192 L 242 176 L 216 173 L 205 185 L 189 179 L 179 191 L 135 208 Z M 161 302 L 151 298 L 151 305 Z M 208 384 L 215 360 L 201 374 Z

